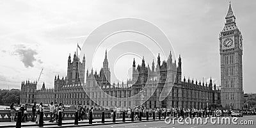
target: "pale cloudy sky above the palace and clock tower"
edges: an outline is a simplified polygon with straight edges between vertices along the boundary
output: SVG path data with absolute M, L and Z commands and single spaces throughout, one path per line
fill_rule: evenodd
M 230 1 L 230 0 L 229 0 Z M 67 75 L 68 55 L 74 55 L 77 43 L 82 47 L 88 35 L 106 22 L 123 17 L 147 20 L 160 28 L 172 43 L 173 60 L 182 58 L 182 78 L 213 82 L 220 86 L 219 35 L 224 27 L 229 1 L 0 1 L 0 88 L 20 88 L 21 81 L 36 81 L 42 68 L 38 88 L 54 86 L 54 76 Z M 254 79 L 256 40 L 256 1 L 231 1 L 237 26 L 243 34 L 243 87 L 245 93 L 256 92 Z M 122 35 L 119 35 L 122 36 Z M 131 33 L 127 37 L 134 37 Z M 127 38 L 125 36 L 125 38 Z M 147 39 L 145 39 L 147 40 Z M 144 40 L 144 41 L 145 41 Z M 120 41 L 120 40 L 118 40 Z M 106 41 L 95 54 L 100 70 Z M 139 46 L 139 45 L 136 45 Z M 110 47 L 110 48 L 109 48 Z M 116 47 L 119 51 L 134 45 Z M 137 47 L 138 48 L 138 47 Z M 115 49 L 113 49 L 115 51 Z M 112 52 L 113 52 L 112 51 Z M 152 63 L 152 56 L 139 49 L 136 62 Z M 86 55 L 85 55 L 86 56 Z M 163 57 L 163 55 L 161 55 Z M 108 56 L 111 60 L 111 56 Z M 109 61 L 117 79 L 131 77 L 134 56 Z M 156 62 L 156 59 L 154 59 Z M 136 65 L 138 65 L 136 63 Z M 146 64 L 147 65 L 147 64 Z M 125 73 L 124 73 L 125 72 Z M 128 73 L 127 73 L 128 72 Z

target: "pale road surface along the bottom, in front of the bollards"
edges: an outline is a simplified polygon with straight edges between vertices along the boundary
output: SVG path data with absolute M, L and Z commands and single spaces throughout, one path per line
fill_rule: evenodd
M 125 118 L 125 122 L 122 122 L 122 118 L 116 119 L 116 122 L 113 123 L 110 118 L 106 118 L 106 123 L 102 124 L 101 119 L 95 119 L 93 120 L 93 124 L 88 124 L 88 120 L 83 120 L 79 122 L 79 125 L 74 125 L 74 120 L 63 120 L 63 125 L 62 127 L 90 127 L 90 128 L 115 128 L 115 127 L 120 127 L 120 128 L 134 128 L 134 127 L 141 127 L 141 128 L 200 128 L 200 127 L 208 127 L 208 128 L 215 128 L 215 127 L 220 127 L 220 128 L 240 128 L 240 127 L 248 127 L 248 128 L 255 128 L 256 126 L 256 116 L 243 116 L 239 117 L 238 120 L 236 121 L 237 124 L 232 124 L 230 122 L 229 124 L 211 124 L 210 120 L 207 120 L 207 124 L 179 124 L 177 120 L 175 120 L 175 124 L 166 124 L 164 120 L 158 120 L 158 118 L 153 121 L 152 118 L 150 118 L 149 121 L 143 120 L 140 122 L 139 120 L 134 120 L 134 122 L 131 122 L 131 119 Z M 203 118 L 205 120 L 205 118 Z M 232 118 L 230 117 L 230 120 Z M 241 120 L 252 120 L 253 124 L 251 125 L 241 125 L 240 122 Z M 184 120 L 182 120 L 184 122 Z M 0 127 L 15 127 L 15 122 L 0 122 Z M 38 127 L 35 122 L 26 122 L 22 123 L 22 127 Z M 44 127 L 58 127 L 56 123 L 49 123 L 48 121 L 45 120 Z

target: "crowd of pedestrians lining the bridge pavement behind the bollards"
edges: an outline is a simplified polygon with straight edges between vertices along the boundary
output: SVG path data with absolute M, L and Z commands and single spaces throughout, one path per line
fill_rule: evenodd
M 63 118 L 63 111 L 65 109 L 64 105 L 61 103 L 57 102 L 51 102 L 47 106 L 49 108 L 49 116 L 50 120 L 49 122 L 57 122 L 58 123 L 58 117 L 59 113 L 61 112 L 61 117 Z M 40 104 L 36 104 L 34 102 L 32 106 L 32 122 L 35 122 L 38 124 L 40 120 L 40 113 L 44 112 L 45 106 L 43 102 L 40 102 Z M 78 112 L 78 120 L 84 120 L 84 119 L 89 119 L 89 113 L 93 112 L 93 107 L 92 108 L 86 108 L 86 106 L 82 106 L 81 104 L 78 104 L 77 106 L 77 112 Z M 134 119 L 138 119 L 141 117 L 146 117 L 147 113 L 149 117 L 152 117 L 155 115 L 155 117 L 169 117 L 169 118 L 179 118 L 179 117 L 207 117 L 207 116 L 216 116 L 216 109 L 186 109 L 186 108 L 145 108 L 143 106 L 138 106 L 135 108 L 128 108 L 128 109 L 121 109 L 120 107 L 111 107 L 110 109 L 111 113 L 111 118 L 113 118 L 113 114 L 116 113 L 116 118 L 120 118 L 122 115 L 122 112 L 127 112 L 128 118 L 131 118 L 131 116 L 134 116 Z M 16 111 L 17 108 L 14 103 L 10 105 L 10 114 L 11 114 L 11 122 L 15 122 L 14 118 L 16 116 Z M 28 104 L 21 104 L 19 111 L 21 111 L 21 122 L 28 122 Z M 244 115 L 250 115 L 250 112 L 248 111 L 242 111 Z M 254 112 L 253 112 L 254 113 Z M 231 110 L 228 109 L 221 109 L 221 116 L 230 116 L 231 115 Z M 252 114 L 253 115 L 253 114 Z M 255 115 L 255 113 L 254 113 Z M 93 118 L 92 118 L 93 119 Z

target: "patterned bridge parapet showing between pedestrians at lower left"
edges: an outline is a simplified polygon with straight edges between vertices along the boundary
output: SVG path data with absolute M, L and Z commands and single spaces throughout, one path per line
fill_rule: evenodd
M 15 115 L 15 120 L 17 120 L 17 112 Z M 73 120 L 75 118 L 75 110 L 65 110 L 63 111 L 63 120 Z M 110 118 L 110 111 L 104 111 L 105 112 L 105 118 Z M 0 110 L 0 122 L 10 122 L 10 110 Z M 32 111 L 28 111 L 28 121 L 32 120 Z M 101 118 L 102 111 L 93 111 L 93 118 Z M 86 118 L 86 115 L 84 115 Z M 45 110 L 44 112 L 44 120 L 50 120 L 50 112 L 49 110 Z

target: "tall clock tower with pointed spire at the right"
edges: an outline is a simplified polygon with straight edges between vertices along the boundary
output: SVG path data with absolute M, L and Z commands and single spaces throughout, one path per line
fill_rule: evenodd
M 243 107 L 243 36 L 229 4 L 220 33 L 221 104 L 228 109 Z

